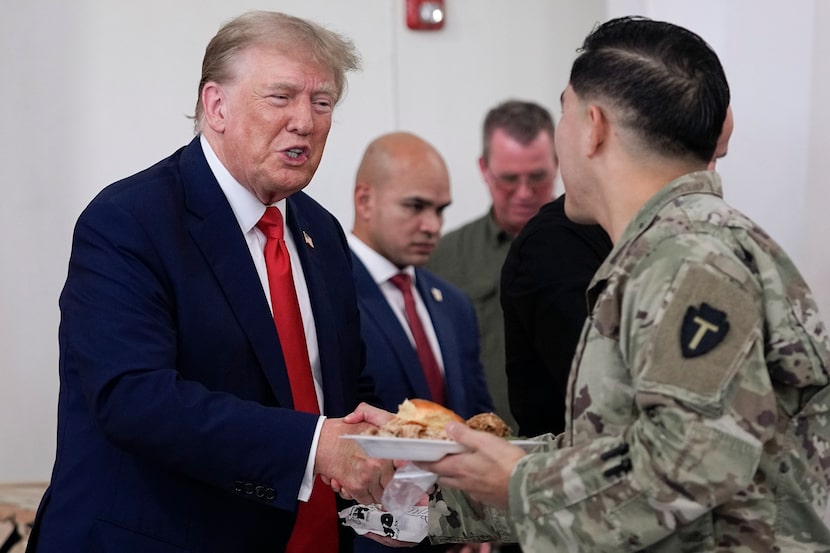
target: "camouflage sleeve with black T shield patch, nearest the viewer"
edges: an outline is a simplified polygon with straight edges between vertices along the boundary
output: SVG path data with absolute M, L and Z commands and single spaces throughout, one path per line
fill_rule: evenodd
M 619 343 L 586 345 L 622 366 L 625 382 L 599 387 L 630 387 L 628 412 L 598 413 L 598 437 L 520 461 L 509 508 L 523 547 L 638 551 L 752 483 L 775 395 L 757 282 L 723 249 L 654 245 L 631 274 Z

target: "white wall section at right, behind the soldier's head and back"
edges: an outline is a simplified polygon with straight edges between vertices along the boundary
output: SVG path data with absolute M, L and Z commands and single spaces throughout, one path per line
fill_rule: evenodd
M 609 17 L 632 13 L 686 26 L 718 52 L 735 114 L 724 196 L 782 245 L 830 317 L 830 4 L 608 0 Z

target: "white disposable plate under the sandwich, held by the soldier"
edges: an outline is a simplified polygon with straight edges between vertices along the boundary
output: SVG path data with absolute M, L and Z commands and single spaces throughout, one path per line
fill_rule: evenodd
M 465 447 L 449 440 L 422 440 L 420 438 L 389 438 L 386 436 L 344 435 L 341 438 L 354 440 L 369 457 L 377 459 L 399 459 L 401 461 L 437 461 L 450 453 L 461 453 Z M 535 440 L 511 440 L 529 451 L 542 442 Z

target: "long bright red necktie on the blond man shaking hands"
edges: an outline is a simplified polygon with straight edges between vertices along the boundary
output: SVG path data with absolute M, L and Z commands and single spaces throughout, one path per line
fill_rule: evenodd
M 291 384 L 294 409 L 319 414 L 300 304 L 297 302 L 294 278 L 291 276 L 291 259 L 283 239 L 280 210 L 276 207 L 266 208 L 257 227 L 267 239 L 265 266 L 271 291 L 271 309 Z M 334 492 L 316 476 L 311 497 L 308 502 L 301 501 L 297 509 L 297 520 L 286 553 L 336 553 L 338 524 Z

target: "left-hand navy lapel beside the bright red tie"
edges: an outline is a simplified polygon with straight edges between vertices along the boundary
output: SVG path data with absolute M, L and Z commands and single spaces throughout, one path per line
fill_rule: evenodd
M 288 374 L 268 301 L 245 237 L 205 161 L 198 137 L 182 154 L 181 174 L 191 236 L 248 336 L 277 401 L 283 407 L 293 408 Z

